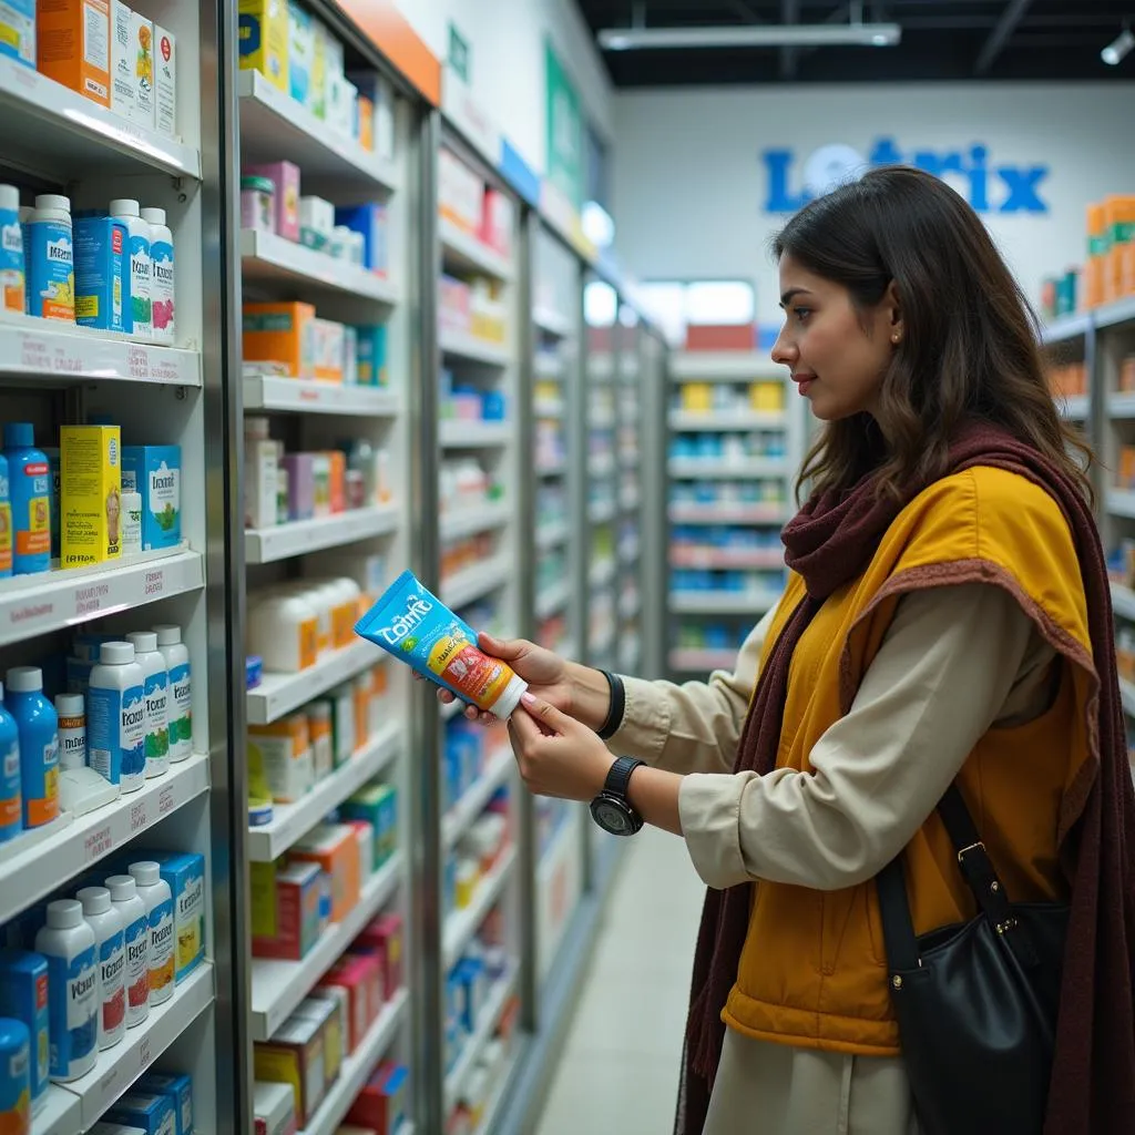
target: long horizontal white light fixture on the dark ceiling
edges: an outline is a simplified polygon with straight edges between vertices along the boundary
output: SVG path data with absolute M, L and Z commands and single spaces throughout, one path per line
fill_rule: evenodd
M 902 28 L 898 24 L 861 23 L 750 24 L 743 27 L 608 27 L 599 32 L 596 39 L 604 51 L 648 51 L 665 48 L 893 48 L 902 40 Z

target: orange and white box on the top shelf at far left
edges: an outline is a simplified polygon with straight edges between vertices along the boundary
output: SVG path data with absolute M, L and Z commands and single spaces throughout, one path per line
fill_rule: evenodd
M 39 0 L 36 69 L 110 106 L 110 0 Z

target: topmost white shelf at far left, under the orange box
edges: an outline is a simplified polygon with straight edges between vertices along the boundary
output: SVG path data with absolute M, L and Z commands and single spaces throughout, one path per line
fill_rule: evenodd
M 201 179 L 201 154 L 191 146 L 126 121 L 77 91 L 0 58 L 0 149 L 34 155 L 37 168 L 138 174 L 158 169 Z

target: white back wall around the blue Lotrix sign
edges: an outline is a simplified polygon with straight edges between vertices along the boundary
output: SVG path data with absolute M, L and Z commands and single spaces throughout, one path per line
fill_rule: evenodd
M 615 99 L 614 200 L 620 255 L 639 279 L 756 280 L 762 323 L 779 323 L 768 237 L 783 215 L 765 211 L 768 149 L 793 151 L 792 188 L 821 146 L 869 154 L 881 136 L 915 150 L 987 148 L 995 167 L 1044 165 L 1044 215 L 985 220 L 1029 299 L 1045 275 L 1083 262 L 1085 212 L 1108 193 L 1135 192 L 1130 144 L 1135 84 L 1116 86 L 917 85 L 648 91 Z M 948 178 L 968 188 L 968 178 Z

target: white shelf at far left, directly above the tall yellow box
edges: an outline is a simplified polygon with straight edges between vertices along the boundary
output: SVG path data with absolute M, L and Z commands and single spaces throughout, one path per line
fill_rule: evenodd
M 47 386 L 94 381 L 200 386 L 201 355 L 56 319 L 0 312 L 0 375 Z

